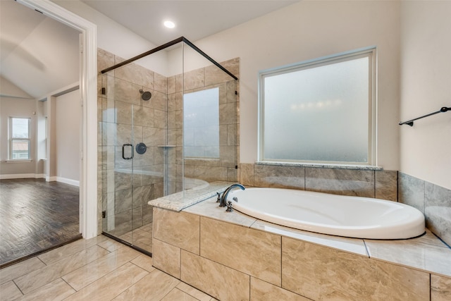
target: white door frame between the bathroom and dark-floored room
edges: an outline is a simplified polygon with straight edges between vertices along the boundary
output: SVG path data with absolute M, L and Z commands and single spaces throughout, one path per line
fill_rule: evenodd
M 97 25 L 49 0 L 16 1 L 81 33 L 80 232 L 83 238 L 93 238 L 98 235 L 99 220 L 97 209 Z

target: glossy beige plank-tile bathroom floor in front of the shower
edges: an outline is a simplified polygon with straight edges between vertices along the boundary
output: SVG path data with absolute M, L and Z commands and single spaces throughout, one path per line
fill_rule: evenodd
M 100 235 L 0 269 L 0 300 L 215 300 Z

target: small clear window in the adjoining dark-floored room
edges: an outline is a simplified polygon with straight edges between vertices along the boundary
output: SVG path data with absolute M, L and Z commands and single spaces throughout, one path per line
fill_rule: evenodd
M 9 118 L 9 159 L 30 160 L 30 118 Z

